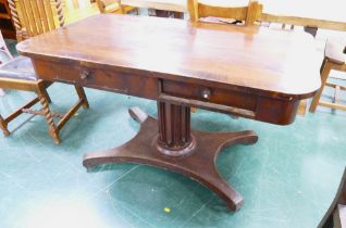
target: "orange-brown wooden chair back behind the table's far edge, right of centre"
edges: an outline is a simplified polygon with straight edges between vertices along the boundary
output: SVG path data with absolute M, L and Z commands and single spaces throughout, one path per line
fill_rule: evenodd
M 198 0 L 187 0 L 187 9 L 191 22 L 198 22 L 201 17 L 221 17 L 242 21 L 246 26 L 254 25 L 260 17 L 262 4 L 256 0 L 249 0 L 245 7 L 217 7 L 198 2 Z

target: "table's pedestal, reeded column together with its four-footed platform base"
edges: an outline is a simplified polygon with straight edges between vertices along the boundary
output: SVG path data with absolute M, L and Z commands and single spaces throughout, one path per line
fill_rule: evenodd
M 83 165 L 91 168 L 104 163 L 141 163 L 191 177 L 222 198 L 232 211 L 243 205 L 243 197 L 219 174 L 219 152 L 232 144 L 250 144 L 254 131 L 202 132 L 190 129 L 190 109 L 158 102 L 159 121 L 138 107 L 129 115 L 140 124 L 139 132 L 127 143 L 100 153 L 85 155 Z

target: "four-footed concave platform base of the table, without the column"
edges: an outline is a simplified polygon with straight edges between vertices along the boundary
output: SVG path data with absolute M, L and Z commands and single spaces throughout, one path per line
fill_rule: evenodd
M 220 176 L 215 160 L 219 152 L 232 144 L 250 144 L 258 140 L 254 131 L 202 132 L 191 130 L 196 140 L 193 151 L 185 156 L 168 156 L 157 149 L 158 123 L 139 109 L 129 110 L 133 118 L 140 123 L 139 132 L 127 143 L 100 153 L 84 156 L 86 168 L 106 163 L 140 163 L 165 168 L 201 182 L 222 198 L 227 207 L 237 211 L 243 197 Z

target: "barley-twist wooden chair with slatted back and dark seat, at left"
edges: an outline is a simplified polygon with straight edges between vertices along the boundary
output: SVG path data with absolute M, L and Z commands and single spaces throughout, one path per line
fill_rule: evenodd
M 55 2 L 59 23 L 63 26 L 64 17 L 61 10 L 61 2 L 60 0 L 55 0 Z M 17 37 L 30 37 L 55 28 L 50 0 L 17 0 L 16 5 L 13 0 L 10 0 L 9 3 L 12 11 L 11 13 L 14 16 L 13 20 L 16 24 L 15 27 L 18 29 Z M 24 22 L 20 21 L 16 9 L 21 10 Z M 5 52 L 8 52 L 8 50 Z M 10 58 L 11 60 L 0 67 L 0 87 L 4 89 L 32 91 L 35 92 L 37 97 L 8 117 L 3 118 L 0 115 L 1 130 L 4 136 L 10 135 L 8 124 L 22 113 L 44 115 L 49 125 L 49 135 L 53 138 L 55 143 L 60 143 L 59 132 L 61 128 L 81 106 L 85 109 L 88 107 L 84 89 L 79 86 L 75 86 L 79 99 L 65 114 L 53 113 L 49 109 L 50 98 L 46 90 L 51 83 L 38 79 L 30 59 L 25 56 L 13 59 L 11 55 Z M 38 111 L 32 110 L 30 107 L 38 102 L 42 105 L 42 109 Z M 61 118 L 57 125 L 53 122 L 54 117 Z

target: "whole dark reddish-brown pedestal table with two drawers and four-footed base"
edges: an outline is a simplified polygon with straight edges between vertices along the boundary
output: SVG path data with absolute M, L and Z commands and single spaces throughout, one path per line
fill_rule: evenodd
M 258 137 L 250 130 L 193 130 L 190 106 L 291 124 L 299 100 L 320 87 L 311 39 L 258 27 L 103 14 L 25 40 L 17 50 L 32 58 L 42 79 L 158 101 L 158 121 L 131 109 L 138 135 L 86 154 L 84 166 L 133 162 L 166 168 L 200 181 L 237 210 L 243 198 L 214 161 L 221 149 Z

